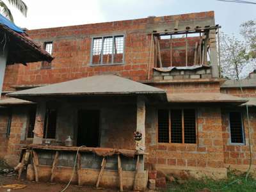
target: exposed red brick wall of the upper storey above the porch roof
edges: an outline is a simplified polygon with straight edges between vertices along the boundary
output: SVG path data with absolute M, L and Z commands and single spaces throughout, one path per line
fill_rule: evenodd
M 63 28 L 36 29 L 28 31 L 29 36 L 39 44 L 53 42 L 51 69 L 41 69 L 41 63 L 28 66 L 8 66 L 7 71 L 19 71 L 17 75 L 6 74 L 4 90 L 11 85 L 49 84 L 97 74 L 117 74 L 136 81 L 147 79 L 150 52 L 150 35 L 153 30 L 173 29 L 175 20 L 179 28 L 186 26 L 214 25 L 214 12 L 191 13 L 147 19 L 123 20 Z M 195 22 L 196 21 L 196 22 Z M 92 36 L 125 35 L 124 65 L 90 66 Z M 177 46 L 183 43 L 177 42 Z M 183 54 L 183 53 L 182 53 Z M 183 62 L 182 54 L 173 55 L 174 61 Z M 164 61 L 165 62 L 165 61 Z M 181 65 L 181 64 L 180 64 Z M 152 74 L 152 71 L 150 72 Z M 13 79 L 14 78 L 14 79 Z

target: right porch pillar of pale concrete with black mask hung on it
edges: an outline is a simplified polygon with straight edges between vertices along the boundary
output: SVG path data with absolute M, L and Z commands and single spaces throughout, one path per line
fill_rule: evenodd
M 136 142 L 136 150 L 144 152 L 145 151 L 145 116 L 146 116 L 146 108 L 145 108 L 145 98 L 138 96 L 137 97 L 137 127 L 136 131 L 142 134 L 142 139 Z M 144 171 L 144 156 L 140 156 L 138 170 Z

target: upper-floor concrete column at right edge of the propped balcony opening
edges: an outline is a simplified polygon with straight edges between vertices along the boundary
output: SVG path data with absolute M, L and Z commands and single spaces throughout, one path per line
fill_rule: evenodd
M 212 66 L 212 77 L 219 77 L 218 54 L 216 47 L 216 30 L 209 32 L 210 61 Z

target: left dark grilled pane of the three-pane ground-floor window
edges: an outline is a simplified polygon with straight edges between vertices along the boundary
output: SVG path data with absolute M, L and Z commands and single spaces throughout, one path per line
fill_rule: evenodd
M 158 110 L 158 142 L 169 143 L 169 110 Z

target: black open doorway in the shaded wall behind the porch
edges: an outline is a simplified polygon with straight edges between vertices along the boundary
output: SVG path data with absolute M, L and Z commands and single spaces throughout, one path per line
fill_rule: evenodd
M 99 110 L 78 111 L 77 146 L 99 147 L 99 120 Z

